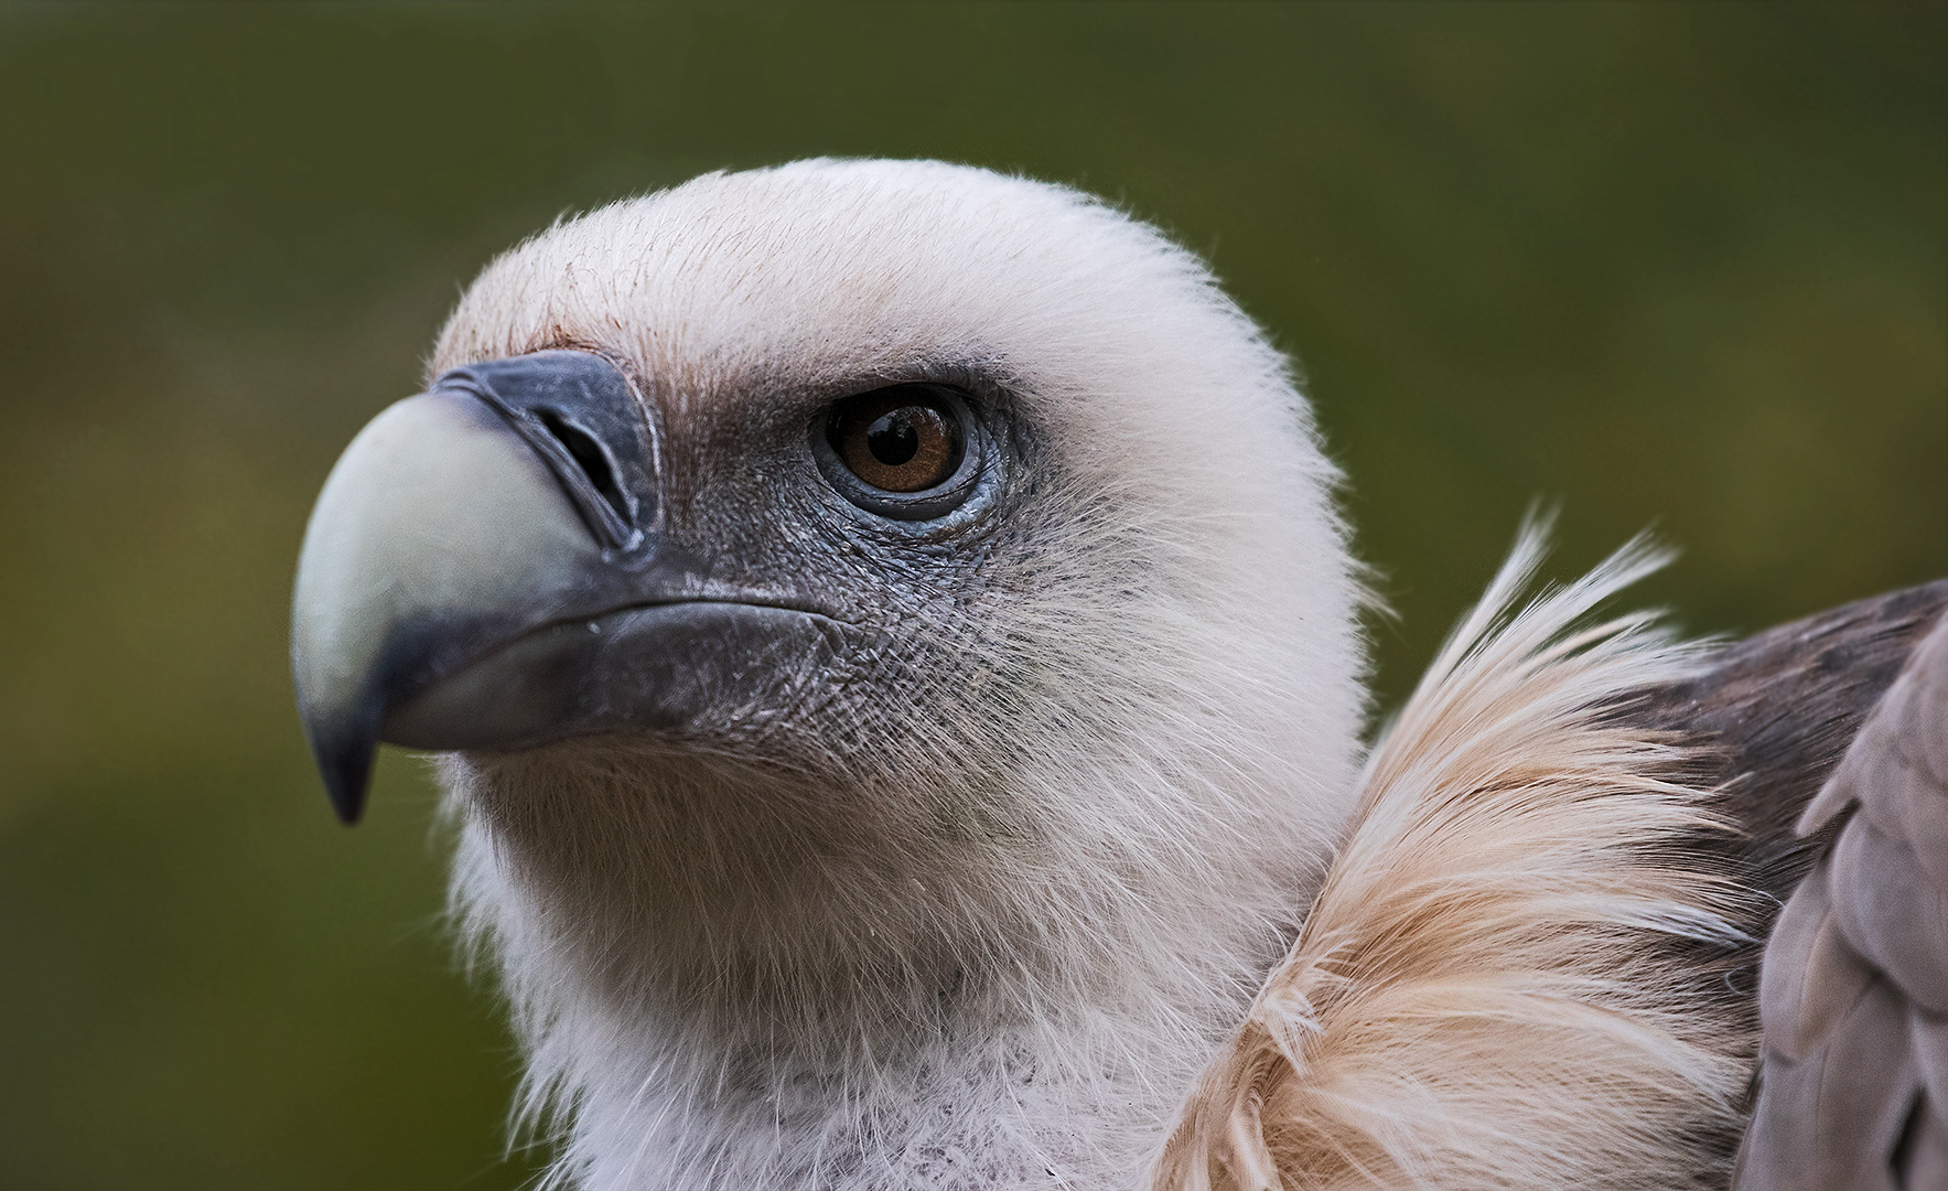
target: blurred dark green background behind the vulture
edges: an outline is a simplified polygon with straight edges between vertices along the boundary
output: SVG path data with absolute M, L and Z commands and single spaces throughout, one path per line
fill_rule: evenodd
M 0 1185 L 512 1187 L 432 791 L 331 819 L 314 491 L 481 263 L 941 156 L 1214 257 L 1305 366 L 1397 696 L 1535 497 L 1740 632 L 1948 571 L 1936 8 L 0 8 Z

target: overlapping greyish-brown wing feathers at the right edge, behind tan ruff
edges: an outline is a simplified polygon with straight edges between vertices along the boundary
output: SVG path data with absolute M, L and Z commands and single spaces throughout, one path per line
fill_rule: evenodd
M 1798 828 L 1839 834 L 1765 951 L 1765 1053 L 1738 1187 L 1940 1191 L 1948 620 L 1913 651 Z

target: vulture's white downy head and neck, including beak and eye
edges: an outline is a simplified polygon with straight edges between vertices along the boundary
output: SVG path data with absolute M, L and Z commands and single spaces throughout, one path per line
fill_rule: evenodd
M 713 173 L 471 285 L 319 497 L 300 710 L 345 819 L 442 754 L 557 1175 L 1122 1185 L 1354 809 L 1334 480 L 1112 207 Z

